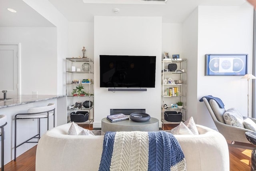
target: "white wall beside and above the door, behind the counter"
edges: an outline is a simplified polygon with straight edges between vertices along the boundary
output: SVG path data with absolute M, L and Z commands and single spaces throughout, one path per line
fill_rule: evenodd
M 20 43 L 21 94 L 57 94 L 54 27 L 0 27 L 1 43 Z

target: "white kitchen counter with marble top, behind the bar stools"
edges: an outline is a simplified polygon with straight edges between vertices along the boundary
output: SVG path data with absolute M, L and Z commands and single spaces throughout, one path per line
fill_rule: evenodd
M 7 98 L 12 98 L 8 96 Z M 4 164 L 14 159 L 14 117 L 17 113 L 26 113 L 32 107 L 42 107 L 49 103 L 55 104 L 55 126 L 67 123 L 67 97 L 66 95 L 20 95 L 12 99 L 0 100 L 0 115 L 6 115 L 7 125 L 4 127 Z M 53 128 L 53 117 L 49 118 L 49 129 Z M 36 135 L 38 119 L 22 119 L 17 122 L 17 143 Z M 47 119 L 40 119 L 40 133 L 47 131 Z M 34 147 L 36 143 L 25 143 L 17 148 L 17 157 Z

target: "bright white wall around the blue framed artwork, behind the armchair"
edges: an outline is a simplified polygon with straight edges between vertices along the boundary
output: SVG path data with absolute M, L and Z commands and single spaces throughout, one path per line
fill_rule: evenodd
M 204 95 L 220 97 L 226 109 L 236 107 L 247 116 L 247 81 L 242 76 L 204 76 L 204 55 L 248 54 L 248 73 L 252 73 L 252 40 L 253 7 L 249 4 L 198 7 L 197 100 Z M 204 103 L 198 102 L 197 108 L 197 123 L 215 127 Z

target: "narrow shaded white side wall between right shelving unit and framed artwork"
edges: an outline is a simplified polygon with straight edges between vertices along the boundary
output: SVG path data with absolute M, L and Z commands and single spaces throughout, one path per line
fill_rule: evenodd
M 197 56 L 198 56 L 198 8 L 182 23 L 182 52 L 187 59 L 187 119 L 197 123 Z

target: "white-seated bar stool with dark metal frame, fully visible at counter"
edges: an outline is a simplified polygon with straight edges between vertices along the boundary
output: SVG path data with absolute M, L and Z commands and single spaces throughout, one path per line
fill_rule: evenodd
M 44 107 L 33 107 L 28 109 L 28 113 L 18 113 L 14 117 L 14 161 L 16 161 L 17 147 L 24 143 L 38 143 L 40 139 L 40 119 L 47 118 L 47 130 L 49 130 L 49 116 L 53 115 L 53 127 L 55 127 L 55 104 L 49 103 Z M 17 145 L 17 119 L 38 119 L 38 134 L 30 139 Z M 31 139 L 38 139 L 37 141 L 30 141 Z

